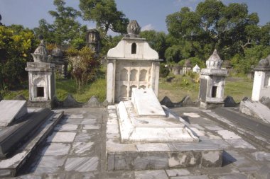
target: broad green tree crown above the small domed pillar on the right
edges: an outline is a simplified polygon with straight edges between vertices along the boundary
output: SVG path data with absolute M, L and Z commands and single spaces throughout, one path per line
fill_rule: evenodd
M 195 11 L 183 7 L 166 18 L 173 37 L 190 42 L 196 57 L 207 59 L 217 49 L 222 59 L 259 44 L 261 28 L 257 13 L 248 13 L 246 4 L 228 6 L 218 0 L 205 0 Z M 264 31 L 265 32 L 265 31 Z

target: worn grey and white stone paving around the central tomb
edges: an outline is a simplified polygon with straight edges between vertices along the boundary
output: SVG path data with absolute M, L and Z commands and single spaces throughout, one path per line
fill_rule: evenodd
M 45 146 L 17 178 L 270 178 L 269 151 L 257 149 L 198 108 L 175 108 L 200 139 L 225 150 L 221 168 L 106 171 L 106 108 L 64 109 L 65 116 Z M 218 115 L 217 115 L 218 116 Z

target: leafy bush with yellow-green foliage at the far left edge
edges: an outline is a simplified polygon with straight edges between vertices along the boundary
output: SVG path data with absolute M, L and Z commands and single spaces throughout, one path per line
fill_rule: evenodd
M 27 78 L 26 62 L 33 58 L 31 52 L 37 40 L 32 30 L 21 25 L 0 26 L 0 88 L 14 88 Z

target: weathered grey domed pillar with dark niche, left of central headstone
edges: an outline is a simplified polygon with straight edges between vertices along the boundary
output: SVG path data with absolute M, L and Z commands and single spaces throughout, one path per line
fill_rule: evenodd
M 55 97 L 55 64 L 50 63 L 43 40 L 32 54 L 34 62 L 28 62 L 29 105 L 53 108 Z

